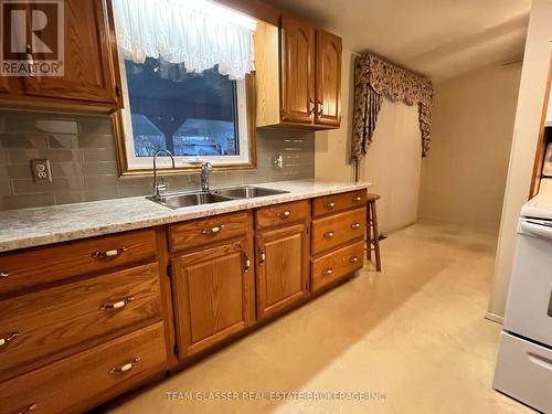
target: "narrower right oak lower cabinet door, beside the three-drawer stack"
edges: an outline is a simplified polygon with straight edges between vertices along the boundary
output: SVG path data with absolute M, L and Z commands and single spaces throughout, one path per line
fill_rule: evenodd
M 257 317 L 307 295 L 309 241 L 305 223 L 261 232 L 256 241 Z

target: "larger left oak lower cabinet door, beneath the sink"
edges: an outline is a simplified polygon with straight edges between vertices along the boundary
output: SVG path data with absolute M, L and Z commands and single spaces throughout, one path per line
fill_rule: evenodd
M 244 329 L 253 320 L 253 268 L 246 241 L 176 257 L 172 297 L 182 359 Z

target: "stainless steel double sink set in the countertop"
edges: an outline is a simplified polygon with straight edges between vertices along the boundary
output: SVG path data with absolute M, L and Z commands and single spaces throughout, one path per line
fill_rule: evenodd
M 263 187 L 243 185 L 210 191 L 193 191 L 167 194 L 159 198 L 147 197 L 147 199 L 174 210 L 192 205 L 212 204 L 232 200 L 285 194 L 288 192 L 289 191 L 284 190 L 265 189 Z

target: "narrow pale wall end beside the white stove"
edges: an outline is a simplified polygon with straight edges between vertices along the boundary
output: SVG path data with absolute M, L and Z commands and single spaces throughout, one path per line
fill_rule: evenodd
M 533 0 L 489 304 L 489 316 L 495 318 L 503 316 L 505 312 L 518 216 L 529 194 L 552 52 L 551 40 L 552 0 Z

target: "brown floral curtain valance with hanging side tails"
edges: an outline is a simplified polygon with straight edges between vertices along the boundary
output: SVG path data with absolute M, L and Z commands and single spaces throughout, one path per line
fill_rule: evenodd
M 351 158 L 360 160 L 372 142 L 383 96 L 392 102 L 420 107 L 422 157 L 429 150 L 432 129 L 433 83 L 373 54 L 354 61 L 354 109 Z

